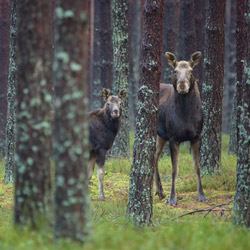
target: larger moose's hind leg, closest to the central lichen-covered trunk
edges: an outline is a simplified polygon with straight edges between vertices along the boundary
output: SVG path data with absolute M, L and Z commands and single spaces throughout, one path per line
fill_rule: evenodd
M 157 136 L 156 142 L 156 153 L 155 153 L 155 169 L 154 169 L 154 179 L 155 179 L 155 194 L 159 195 L 160 200 L 166 197 L 165 193 L 163 192 L 161 178 L 159 174 L 158 162 L 161 156 L 161 153 L 166 145 L 166 141 L 162 139 L 160 136 Z

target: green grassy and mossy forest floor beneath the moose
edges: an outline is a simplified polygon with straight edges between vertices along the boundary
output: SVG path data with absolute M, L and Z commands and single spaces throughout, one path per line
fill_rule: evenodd
M 223 136 L 221 171 L 202 177 L 207 203 L 196 200 L 196 178 L 189 145 L 181 146 L 176 182 L 178 204 L 169 206 L 165 200 L 154 196 L 154 226 L 142 230 L 133 229 L 126 219 L 132 159 L 109 159 L 104 177 L 106 201 L 98 201 L 96 171 L 89 186 L 93 232 L 84 248 L 70 240 L 55 243 L 53 228 L 39 233 L 28 228 L 20 233 L 13 228 L 13 185 L 3 184 L 2 162 L 0 249 L 250 249 L 250 232 L 232 224 L 236 156 L 227 154 L 228 139 Z M 169 195 L 169 156 L 161 158 L 159 169 L 164 191 Z

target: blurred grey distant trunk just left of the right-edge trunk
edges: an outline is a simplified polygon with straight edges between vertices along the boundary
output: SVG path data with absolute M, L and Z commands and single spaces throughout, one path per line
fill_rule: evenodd
M 225 67 L 224 93 L 222 112 L 222 132 L 229 134 L 233 110 L 233 96 L 235 89 L 235 1 L 227 0 L 226 4 L 226 39 L 225 39 Z

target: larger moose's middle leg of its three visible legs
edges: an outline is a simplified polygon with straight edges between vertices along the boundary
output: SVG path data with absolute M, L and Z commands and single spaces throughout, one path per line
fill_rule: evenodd
M 169 146 L 172 161 L 172 187 L 171 194 L 166 202 L 168 202 L 170 206 L 174 206 L 177 204 L 175 182 L 178 175 L 179 143 L 169 142 Z

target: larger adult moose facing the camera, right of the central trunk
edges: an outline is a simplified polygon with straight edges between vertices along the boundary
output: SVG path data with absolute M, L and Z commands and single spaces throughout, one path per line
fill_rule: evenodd
M 201 53 L 192 54 L 189 61 L 177 61 L 170 52 L 165 54 L 167 62 L 174 68 L 173 84 L 160 85 L 160 104 L 155 154 L 156 194 L 160 199 L 165 197 L 162 189 L 158 160 L 169 141 L 172 161 L 172 187 L 168 199 L 169 205 L 176 205 L 175 181 L 178 174 L 179 145 L 190 141 L 193 165 L 197 178 L 198 200 L 206 202 L 200 178 L 200 146 L 202 131 L 202 107 L 200 93 L 192 74 L 193 68 L 199 63 Z

